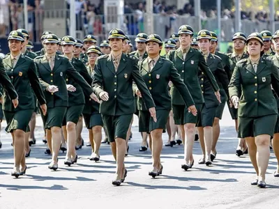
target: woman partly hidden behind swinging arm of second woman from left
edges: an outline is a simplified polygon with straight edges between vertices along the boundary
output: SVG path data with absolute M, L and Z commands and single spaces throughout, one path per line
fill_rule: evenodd
M 61 45 L 64 56 L 73 64 L 75 70 L 77 70 L 86 81 L 91 82 L 92 79 L 84 63 L 82 63 L 80 59 L 74 58 L 75 38 L 72 36 L 64 36 Z M 65 139 L 67 139 L 67 155 L 64 164 L 70 166 L 74 162 L 77 162 L 77 154 L 75 153 L 75 141 L 77 138 L 76 126 L 82 114 L 85 100 L 82 87 L 68 75 L 66 76 L 66 84 L 68 90 L 68 107 L 63 121 L 63 132 Z

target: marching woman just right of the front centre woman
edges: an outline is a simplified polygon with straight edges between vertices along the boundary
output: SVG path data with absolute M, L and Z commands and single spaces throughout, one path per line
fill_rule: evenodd
M 151 34 L 146 40 L 147 59 L 139 63 L 140 73 L 149 87 L 149 91 L 156 104 L 157 122 L 154 123 L 149 116 L 149 112 L 141 99 L 139 90 L 136 90 L 139 96 L 138 107 L 140 110 L 140 132 L 147 132 L 151 134 L 151 150 L 153 158 L 153 170 L 149 172 L 149 176 L 153 178 L 162 173 L 163 166 L 160 163 L 160 153 L 163 146 L 162 134 L 165 132 L 167 118 L 171 109 L 171 102 L 169 96 L 169 81 L 178 89 L 183 101 L 193 115 L 197 114 L 194 101 L 190 95 L 188 88 L 183 83 L 179 73 L 174 68 L 172 62 L 162 59 L 160 57 L 160 50 L 162 49 L 162 39 L 157 34 Z

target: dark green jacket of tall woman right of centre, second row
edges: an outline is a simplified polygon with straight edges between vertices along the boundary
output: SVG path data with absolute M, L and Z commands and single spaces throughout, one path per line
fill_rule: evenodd
M 193 97 L 195 104 L 204 103 L 204 98 L 202 96 L 202 89 L 199 85 L 198 72 L 199 69 L 204 72 L 204 75 L 208 77 L 211 86 L 213 86 L 214 91 L 218 91 L 219 87 L 214 78 L 209 66 L 206 65 L 204 56 L 201 52 L 190 47 L 189 52 L 186 55 L 184 61 L 181 48 L 169 51 L 167 54 L 167 59 L 174 63 L 174 67 L 178 70 L 184 84 L 188 87 L 190 94 Z M 171 88 L 172 104 L 183 105 L 184 102 L 181 95 L 175 86 Z

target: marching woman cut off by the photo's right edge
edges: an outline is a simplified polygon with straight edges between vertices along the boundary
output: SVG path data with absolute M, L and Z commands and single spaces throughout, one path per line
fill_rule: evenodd
M 276 31 L 273 35 L 273 46 L 276 51 L 276 54 L 271 56 L 271 60 L 273 61 L 274 65 L 279 68 L 279 30 Z M 279 109 L 279 98 L 278 95 L 274 95 L 277 101 L 277 109 Z M 274 136 L 272 139 L 273 151 L 277 158 L 277 169 L 273 173 L 275 177 L 279 177 L 279 116 L 277 117 L 276 126 L 274 130 Z

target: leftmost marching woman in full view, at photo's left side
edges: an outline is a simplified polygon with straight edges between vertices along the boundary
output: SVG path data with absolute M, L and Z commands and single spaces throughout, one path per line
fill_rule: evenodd
M 31 89 L 38 98 L 43 114 L 47 112 L 43 90 L 36 75 L 36 66 L 31 59 L 21 53 L 23 42 L 24 36 L 20 31 L 10 32 L 8 36 L 10 55 L 3 59 L 6 72 L 15 86 L 20 100 L 20 105 L 14 109 L 10 98 L 4 95 L 3 99 L 3 114 L 7 121 L 6 131 L 10 132 L 13 137 L 15 166 L 12 176 L 16 178 L 23 175 L 27 169 L 24 133 L 36 106 Z

